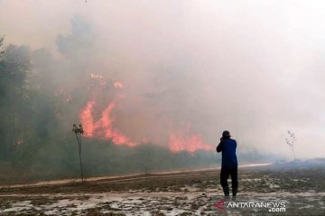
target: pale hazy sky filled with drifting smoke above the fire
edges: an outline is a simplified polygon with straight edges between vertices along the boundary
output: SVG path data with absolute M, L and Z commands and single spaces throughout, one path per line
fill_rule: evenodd
M 153 140 L 167 124 L 210 145 L 230 130 L 239 150 L 290 156 L 292 130 L 297 157 L 325 157 L 323 1 L 0 0 L 0 35 L 61 58 L 74 15 L 94 32 L 96 73 L 124 83 Z

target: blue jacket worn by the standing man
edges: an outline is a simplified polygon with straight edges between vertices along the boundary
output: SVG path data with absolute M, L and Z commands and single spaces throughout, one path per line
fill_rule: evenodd
M 235 139 L 221 139 L 217 151 L 222 151 L 222 168 L 237 168 L 236 148 L 237 142 Z

